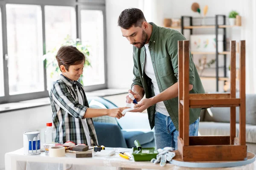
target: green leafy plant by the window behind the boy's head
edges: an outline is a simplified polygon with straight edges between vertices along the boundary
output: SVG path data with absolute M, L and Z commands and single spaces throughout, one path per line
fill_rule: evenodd
M 49 91 L 50 88 L 52 88 L 53 83 L 59 79 L 59 75 L 61 74 L 61 71 L 58 66 L 58 62 L 55 59 L 55 56 L 58 52 L 58 49 L 63 45 L 73 45 L 75 46 L 79 51 L 81 51 L 85 56 L 85 63 L 84 67 L 91 66 L 90 64 L 90 52 L 88 50 L 89 46 L 83 45 L 81 43 L 80 39 L 73 40 L 68 35 L 63 43 L 59 45 L 58 47 L 53 48 L 51 51 L 48 51 L 47 54 L 45 54 L 43 59 L 46 60 L 46 69 L 47 69 L 47 90 Z M 78 80 L 81 84 L 83 84 L 83 75 L 81 75 L 80 79 Z

